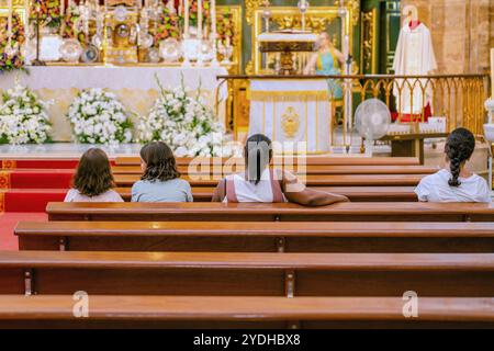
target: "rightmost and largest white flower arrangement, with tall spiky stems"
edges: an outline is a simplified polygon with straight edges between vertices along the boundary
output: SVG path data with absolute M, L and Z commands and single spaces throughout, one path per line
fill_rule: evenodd
M 161 93 L 149 114 L 139 120 L 139 141 L 165 141 L 177 157 L 224 156 L 223 125 L 214 121 L 200 88 L 192 97 L 183 81 L 180 87 L 168 90 L 157 81 Z

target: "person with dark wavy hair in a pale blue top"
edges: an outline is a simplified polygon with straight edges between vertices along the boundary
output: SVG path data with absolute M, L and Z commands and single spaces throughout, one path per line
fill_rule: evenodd
M 180 179 L 168 145 L 153 141 L 141 149 L 143 176 L 132 186 L 133 202 L 192 202 L 190 184 Z

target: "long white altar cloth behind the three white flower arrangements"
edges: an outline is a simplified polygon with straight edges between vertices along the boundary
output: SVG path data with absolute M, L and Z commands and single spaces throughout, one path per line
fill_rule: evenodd
M 77 92 L 86 88 L 105 88 L 116 94 L 131 111 L 147 114 L 158 97 L 155 75 L 162 87 L 175 88 L 183 82 L 187 88 L 198 89 L 206 97 L 210 107 L 214 107 L 218 87 L 216 76 L 227 75 L 224 67 L 117 67 L 117 66 L 36 66 L 27 67 L 30 75 L 21 73 L 23 86 L 33 89 L 41 99 L 50 101 L 48 114 L 54 125 L 54 139 L 70 140 L 70 124 L 65 117 L 68 106 Z M 13 88 L 16 73 L 0 76 L 0 91 Z M 228 90 L 223 84 L 218 91 L 220 101 L 226 101 Z M 224 122 L 225 111 L 218 110 L 218 118 Z

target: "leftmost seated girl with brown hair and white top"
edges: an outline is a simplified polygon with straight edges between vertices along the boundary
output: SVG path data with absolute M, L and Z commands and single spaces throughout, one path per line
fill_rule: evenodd
M 123 202 L 112 190 L 114 184 L 106 154 L 98 148 L 87 150 L 80 158 L 74 176 L 74 189 L 65 202 Z

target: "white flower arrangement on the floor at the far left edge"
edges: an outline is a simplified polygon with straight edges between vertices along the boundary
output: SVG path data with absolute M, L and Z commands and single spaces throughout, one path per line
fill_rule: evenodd
M 0 144 L 43 144 L 52 131 L 46 104 L 29 88 L 15 84 L 0 105 Z

